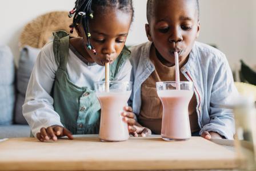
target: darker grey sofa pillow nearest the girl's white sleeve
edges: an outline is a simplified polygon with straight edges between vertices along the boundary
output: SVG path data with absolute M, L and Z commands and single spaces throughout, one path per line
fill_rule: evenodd
M 29 83 L 30 75 L 34 67 L 35 60 L 40 52 L 40 49 L 25 46 L 21 50 L 19 56 L 19 67 L 17 70 L 17 99 L 15 103 L 16 124 L 27 124 L 27 121 L 22 115 L 22 105 L 25 101 L 27 84 Z

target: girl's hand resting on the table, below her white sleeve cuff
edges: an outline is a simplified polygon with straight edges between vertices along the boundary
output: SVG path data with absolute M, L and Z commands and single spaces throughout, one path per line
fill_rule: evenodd
M 40 132 L 37 133 L 37 139 L 39 141 L 53 140 L 57 141 L 57 137 L 67 136 L 70 140 L 73 140 L 72 133 L 59 125 L 53 125 L 48 128 L 41 128 Z

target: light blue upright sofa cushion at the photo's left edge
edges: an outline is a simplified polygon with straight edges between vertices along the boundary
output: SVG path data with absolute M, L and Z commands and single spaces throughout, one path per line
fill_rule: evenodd
M 0 46 L 0 125 L 13 122 L 14 58 L 8 46 Z

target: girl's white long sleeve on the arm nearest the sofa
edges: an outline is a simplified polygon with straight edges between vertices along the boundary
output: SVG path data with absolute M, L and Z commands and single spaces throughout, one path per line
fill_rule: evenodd
M 42 50 L 38 55 L 27 86 L 25 104 L 22 107 L 23 116 L 35 137 L 42 127 L 63 126 L 58 113 L 54 111 L 53 97 L 50 96 L 58 67 L 53 54 L 48 52 Z

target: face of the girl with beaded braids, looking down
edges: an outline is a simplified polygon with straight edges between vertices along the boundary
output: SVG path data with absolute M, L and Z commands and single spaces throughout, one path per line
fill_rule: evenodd
M 89 21 L 90 42 L 97 55 L 87 49 L 85 31 L 82 27 L 79 29 L 89 58 L 100 66 L 112 63 L 118 57 L 125 46 L 131 25 L 131 13 L 113 9 L 105 9 L 104 12 L 94 14 L 94 18 Z

